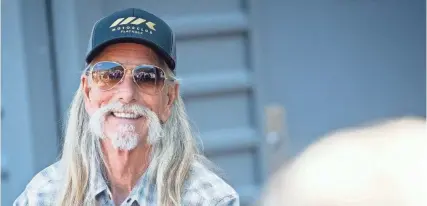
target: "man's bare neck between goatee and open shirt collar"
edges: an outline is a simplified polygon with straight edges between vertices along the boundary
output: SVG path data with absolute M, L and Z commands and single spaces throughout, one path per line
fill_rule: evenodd
M 107 138 L 101 141 L 106 175 L 114 201 L 121 203 L 132 191 L 148 167 L 150 147 L 138 145 L 126 151 L 114 148 Z

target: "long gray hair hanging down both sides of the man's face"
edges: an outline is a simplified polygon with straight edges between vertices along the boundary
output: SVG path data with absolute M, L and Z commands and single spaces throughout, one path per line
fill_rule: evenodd
M 170 70 L 167 75 L 173 75 Z M 91 189 L 99 168 L 105 167 L 99 138 L 90 132 L 90 117 L 85 110 L 83 88 L 77 90 L 72 101 L 65 132 L 61 166 L 64 183 L 58 194 L 58 205 L 76 203 L 95 205 Z M 200 154 L 191 130 L 182 98 L 178 95 L 172 112 L 165 122 L 164 137 L 152 144 L 147 174 L 157 188 L 158 205 L 180 205 L 182 186 L 191 165 L 209 164 Z

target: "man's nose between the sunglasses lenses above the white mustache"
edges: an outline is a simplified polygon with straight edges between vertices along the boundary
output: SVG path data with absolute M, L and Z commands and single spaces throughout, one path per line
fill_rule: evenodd
M 137 90 L 133 82 L 132 75 L 126 75 L 122 82 L 117 85 L 116 98 L 124 103 L 129 104 L 136 101 Z

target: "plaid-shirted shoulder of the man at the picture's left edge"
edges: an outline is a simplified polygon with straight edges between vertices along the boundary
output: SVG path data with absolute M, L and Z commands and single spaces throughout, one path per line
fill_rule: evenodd
M 46 205 L 52 203 L 58 190 L 61 172 L 56 162 L 37 173 L 13 205 Z

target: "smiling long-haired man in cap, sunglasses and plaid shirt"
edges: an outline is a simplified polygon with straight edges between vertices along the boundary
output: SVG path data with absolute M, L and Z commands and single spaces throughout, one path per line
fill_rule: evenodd
M 175 51 L 171 28 L 146 11 L 96 22 L 61 159 L 14 205 L 239 205 L 197 150 Z

